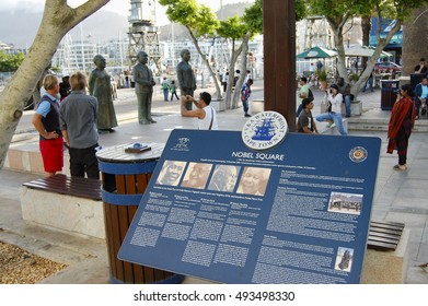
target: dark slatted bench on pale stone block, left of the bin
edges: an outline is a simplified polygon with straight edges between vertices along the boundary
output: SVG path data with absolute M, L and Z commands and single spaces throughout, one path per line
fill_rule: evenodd
M 24 183 L 22 217 L 78 236 L 105 239 L 101 181 L 57 174 Z

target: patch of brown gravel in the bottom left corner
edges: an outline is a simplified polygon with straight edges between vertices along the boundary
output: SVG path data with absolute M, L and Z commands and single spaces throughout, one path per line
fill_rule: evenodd
M 67 264 L 0 242 L 0 284 L 35 284 L 65 268 Z

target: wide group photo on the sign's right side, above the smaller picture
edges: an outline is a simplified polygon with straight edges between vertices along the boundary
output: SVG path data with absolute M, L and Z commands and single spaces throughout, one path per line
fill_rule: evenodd
M 361 214 L 362 195 L 332 192 L 329 196 L 328 208 L 329 212 Z

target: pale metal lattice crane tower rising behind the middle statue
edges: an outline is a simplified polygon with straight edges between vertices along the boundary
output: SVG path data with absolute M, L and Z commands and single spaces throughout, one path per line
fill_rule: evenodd
M 161 48 L 160 31 L 155 26 L 155 1 L 154 0 L 130 0 L 129 22 L 129 67 L 137 62 L 137 54 L 141 50 L 149 56 L 149 67 L 153 64 L 161 71 Z

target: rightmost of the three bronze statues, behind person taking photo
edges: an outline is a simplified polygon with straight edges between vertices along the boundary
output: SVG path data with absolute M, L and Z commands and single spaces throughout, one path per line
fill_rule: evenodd
M 194 96 L 194 91 L 196 90 L 196 79 L 192 66 L 188 63 L 190 60 L 190 51 L 183 49 L 180 55 L 182 57 L 182 61 L 177 64 L 177 78 L 181 95 Z M 186 103 L 186 109 L 192 110 L 192 101 Z

